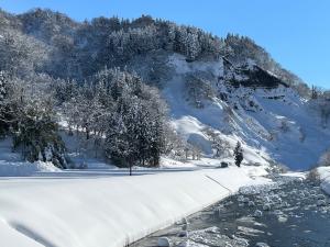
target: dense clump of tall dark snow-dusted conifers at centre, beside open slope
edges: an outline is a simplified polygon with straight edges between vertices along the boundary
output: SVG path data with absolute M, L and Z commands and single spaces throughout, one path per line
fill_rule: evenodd
M 110 70 L 108 96 L 112 106 L 106 108 L 106 154 L 118 165 L 157 166 L 165 151 L 166 106 L 156 89 L 127 71 Z M 100 89 L 100 88 L 99 88 Z M 99 90 L 98 89 L 98 90 Z M 101 90 L 103 91 L 103 90 Z

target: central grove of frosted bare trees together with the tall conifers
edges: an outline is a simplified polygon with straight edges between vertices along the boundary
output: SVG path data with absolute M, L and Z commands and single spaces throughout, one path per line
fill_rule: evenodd
M 54 90 L 69 130 L 84 132 L 118 165 L 157 166 L 170 151 L 167 106 L 136 75 L 105 69 L 84 85 L 64 81 Z

